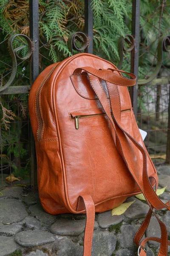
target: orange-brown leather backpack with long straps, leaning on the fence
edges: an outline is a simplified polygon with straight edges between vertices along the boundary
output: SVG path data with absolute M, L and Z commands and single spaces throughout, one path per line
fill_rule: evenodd
M 154 209 L 170 210 L 156 195 L 156 169 L 136 124 L 127 87 L 136 77 L 98 56 L 80 53 L 47 67 L 29 95 L 38 189 L 46 212 L 86 213 L 84 256 L 91 256 L 95 212 L 143 193 L 150 210 L 134 242 L 146 256 L 148 240 L 160 242 L 167 256 L 165 225 Z M 142 237 L 155 215 L 161 239 Z

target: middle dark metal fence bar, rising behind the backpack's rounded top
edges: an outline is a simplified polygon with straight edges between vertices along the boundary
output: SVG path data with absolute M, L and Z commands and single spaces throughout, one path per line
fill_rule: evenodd
M 85 0 L 85 34 L 89 39 L 85 52 L 88 53 L 93 53 L 93 9 L 91 3 L 91 0 Z

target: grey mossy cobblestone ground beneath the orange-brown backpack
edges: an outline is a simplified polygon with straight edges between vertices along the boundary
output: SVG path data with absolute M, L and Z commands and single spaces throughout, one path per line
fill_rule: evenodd
M 159 166 L 160 187 L 167 186 L 160 196 L 170 200 L 170 166 Z M 0 256 L 81 256 L 85 215 L 50 215 L 40 204 L 38 193 L 26 196 L 23 187 L 0 191 Z M 128 198 L 127 201 L 134 200 Z M 96 214 L 92 256 L 135 256 L 133 237 L 147 214 L 148 206 L 135 202 L 120 216 L 111 211 Z M 170 236 L 170 211 L 156 211 Z M 160 236 L 159 225 L 152 218 L 147 236 Z M 147 256 L 157 255 L 159 245 L 149 242 Z

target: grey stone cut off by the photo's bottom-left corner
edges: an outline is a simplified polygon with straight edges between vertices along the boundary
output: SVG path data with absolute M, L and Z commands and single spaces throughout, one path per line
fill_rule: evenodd
M 0 236 L 0 256 L 8 256 L 17 249 L 17 244 L 11 237 Z

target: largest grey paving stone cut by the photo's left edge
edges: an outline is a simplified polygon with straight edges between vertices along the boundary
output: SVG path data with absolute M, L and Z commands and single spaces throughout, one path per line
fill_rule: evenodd
M 17 199 L 1 199 L 0 200 L 0 222 L 3 224 L 22 221 L 28 216 L 23 205 Z

